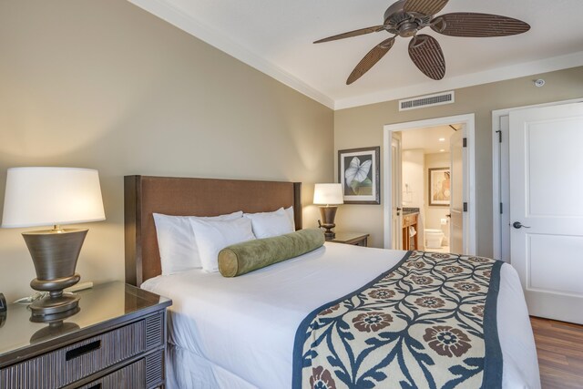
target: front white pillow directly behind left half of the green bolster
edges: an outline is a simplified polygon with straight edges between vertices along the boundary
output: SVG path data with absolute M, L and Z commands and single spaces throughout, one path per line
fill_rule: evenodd
M 219 251 L 231 244 L 255 239 L 251 220 L 190 220 L 199 246 L 202 270 L 219 271 Z

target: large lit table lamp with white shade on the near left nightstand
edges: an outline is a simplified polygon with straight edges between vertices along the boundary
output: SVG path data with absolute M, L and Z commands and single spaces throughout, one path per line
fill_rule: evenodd
M 105 220 L 105 213 L 97 170 L 8 169 L 2 227 L 53 226 L 22 234 L 36 270 L 30 286 L 48 292 L 30 305 L 33 316 L 77 308 L 78 296 L 63 290 L 81 279 L 75 268 L 87 229 L 62 229 L 61 225 L 98 220 Z

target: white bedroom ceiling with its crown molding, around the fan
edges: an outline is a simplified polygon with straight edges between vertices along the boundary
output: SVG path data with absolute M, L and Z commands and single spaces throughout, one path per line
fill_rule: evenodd
M 425 77 L 407 54 L 408 39 L 351 86 L 353 67 L 388 33 L 330 43 L 314 40 L 383 24 L 392 0 L 128 0 L 284 84 L 335 109 L 414 97 L 560 68 L 583 66 L 581 0 L 450 0 L 440 14 L 479 12 L 531 25 L 519 36 L 461 38 L 430 28 L 447 64 L 445 78 Z

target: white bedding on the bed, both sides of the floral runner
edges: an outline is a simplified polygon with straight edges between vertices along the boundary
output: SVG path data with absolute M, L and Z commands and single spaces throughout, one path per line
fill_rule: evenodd
M 173 301 L 170 386 L 290 387 L 293 340 L 300 322 L 324 303 L 370 282 L 403 256 L 404 251 L 326 243 L 240 277 L 194 270 L 144 282 L 142 288 Z M 504 387 L 539 388 L 527 305 L 517 272 L 507 264 L 501 270 L 497 326 Z

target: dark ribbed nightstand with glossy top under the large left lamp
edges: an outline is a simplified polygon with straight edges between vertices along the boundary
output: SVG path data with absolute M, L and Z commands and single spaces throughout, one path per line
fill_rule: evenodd
M 78 292 L 79 312 L 30 321 L 10 304 L 0 328 L 0 388 L 164 387 L 171 301 L 123 282 Z

